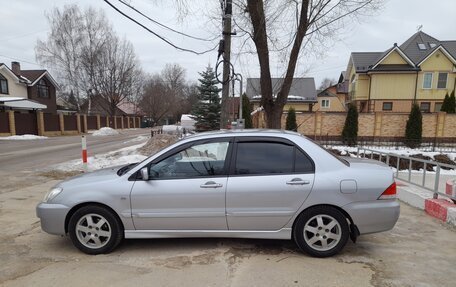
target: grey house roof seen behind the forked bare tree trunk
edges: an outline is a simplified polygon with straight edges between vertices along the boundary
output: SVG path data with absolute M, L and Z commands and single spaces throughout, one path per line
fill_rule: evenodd
M 283 78 L 272 78 L 272 93 L 277 96 L 283 83 Z M 253 100 L 261 97 L 260 79 L 248 78 L 246 95 Z M 288 100 L 295 102 L 316 102 L 317 92 L 314 78 L 293 78 Z

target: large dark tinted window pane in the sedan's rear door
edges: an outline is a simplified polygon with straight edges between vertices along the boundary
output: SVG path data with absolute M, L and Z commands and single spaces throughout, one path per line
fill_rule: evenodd
M 237 145 L 236 174 L 291 173 L 294 147 L 271 142 L 241 142 Z

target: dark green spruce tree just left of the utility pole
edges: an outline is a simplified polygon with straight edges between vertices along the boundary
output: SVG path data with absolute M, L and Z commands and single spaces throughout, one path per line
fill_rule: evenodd
M 221 105 L 217 87 L 217 79 L 211 67 L 199 73 L 198 101 L 193 106 L 192 118 L 196 121 L 196 131 L 211 131 L 220 129 Z

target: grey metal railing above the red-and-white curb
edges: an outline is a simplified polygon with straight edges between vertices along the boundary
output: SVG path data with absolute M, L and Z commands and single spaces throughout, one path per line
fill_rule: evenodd
M 439 191 L 439 185 L 441 183 L 440 182 L 441 170 L 442 169 L 456 170 L 456 165 L 444 164 L 444 163 L 440 163 L 440 162 L 436 162 L 436 161 L 432 161 L 432 160 L 414 158 L 414 157 L 399 155 L 399 154 L 395 154 L 395 153 L 388 153 L 388 152 L 378 151 L 378 150 L 369 149 L 369 148 L 365 148 L 365 147 L 358 147 L 357 157 L 370 158 L 370 159 L 384 162 L 388 166 L 394 167 L 396 169 L 396 172 L 394 175 L 395 178 L 398 178 L 398 179 L 406 181 L 410 184 L 419 186 L 426 190 L 432 191 L 434 193 L 434 195 L 433 195 L 434 198 L 437 198 L 438 195 L 441 195 L 444 197 L 449 197 L 453 201 L 456 201 L 456 197 L 452 197 L 446 193 Z M 404 166 L 404 164 L 406 164 L 406 165 Z M 412 167 L 414 164 L 415 164 L 415 166 L 418 164 L 418 167 L 419 167 L 418 173 L 423 176 L 421 182 L 419 182 L 419 183 L 412 180 Z M 407 178 L 405 178 L 405 179 L 402 177 L 399 177 L 399 172 L 401 171 L 401 167 L 402 168 L 406 167 L 406 169 L 407 169 L 408 173 L 407 173 Z M 435 172 L 434 182 L 431 185 L 431 187 L 426 185 L 426 172 L 428 172 L 430 170 Z

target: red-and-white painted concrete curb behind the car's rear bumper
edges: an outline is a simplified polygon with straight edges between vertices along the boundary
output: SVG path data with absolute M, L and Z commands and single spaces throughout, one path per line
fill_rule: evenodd
M 398 199 L 413 206 L 424 210 L 430 216 L 443 222 L 456 226 L 456 204 L 447 199 L 434 199 L 433 193 L 419 187 L 408 185 L 402 181 L 397 183 Z M 450 185 L 450 187 L 448 187 Z M 456 189 L 456 180 L 447 182 L 446 194 L 452 195 Z

